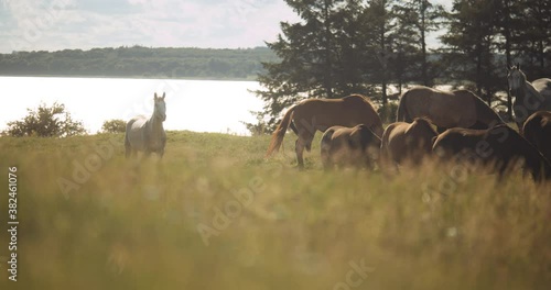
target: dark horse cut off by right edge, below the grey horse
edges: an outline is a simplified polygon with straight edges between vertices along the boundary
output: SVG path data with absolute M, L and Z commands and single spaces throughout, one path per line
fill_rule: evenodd
M 551 111 L 531 114 L 522 126 L 522 133 L 551 161 Z

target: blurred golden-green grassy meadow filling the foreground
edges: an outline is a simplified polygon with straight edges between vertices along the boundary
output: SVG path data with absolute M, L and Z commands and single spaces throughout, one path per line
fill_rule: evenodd
M 317 136 L 318 140 L 320 136 Z M 550 289 L 551 185 L 425 164 L 324 171 L 318 142 L 0 137 L 0 289 Z M 18 282 L 8 167 L 18 167 Z

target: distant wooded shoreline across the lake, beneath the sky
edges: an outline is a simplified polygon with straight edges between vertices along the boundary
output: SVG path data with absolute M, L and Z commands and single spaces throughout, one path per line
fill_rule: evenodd
M 268 47 L 215 49 L 134 45 L 0 54 L 0 75 L 255 79 L 263 71 L 262 62 L 276 60 L 276 54 Z

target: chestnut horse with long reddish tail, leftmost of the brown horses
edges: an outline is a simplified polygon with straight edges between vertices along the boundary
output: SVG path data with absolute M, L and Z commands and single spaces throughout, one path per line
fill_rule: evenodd
M 342 99 L 309 99 L 291 107 L 273 132 L 266 156 L 279 150 L 289 126 L 299 136 L 295 153 L 299 167 L 304 166 L 304 148 L 310 152 L 316 131 L 325 132 L 331 126 L 355 126 L 365 124 L 377 136 L 382 136 L 382 123 L 374 105 L 366 97 L 352 94 Z

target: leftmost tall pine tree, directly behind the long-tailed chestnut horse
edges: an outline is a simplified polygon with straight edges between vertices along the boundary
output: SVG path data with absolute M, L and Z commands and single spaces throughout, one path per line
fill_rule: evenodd
M 267 72 L 258 80 L 266 89 L 255 91 L 264 101 L 263 111 L 257 113 L 267 122 L 267 131 L 274 127 L 282 110 L 299 100 L 341 98 L 363 82 L 357 53 L 363 37 L 357 33 L 361 1 L 285 1 L 302 21 L 282 22 L 278 40 L 267 43 L 281 58 L 262 64 Z

